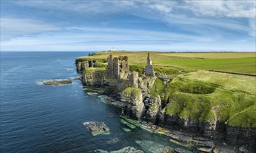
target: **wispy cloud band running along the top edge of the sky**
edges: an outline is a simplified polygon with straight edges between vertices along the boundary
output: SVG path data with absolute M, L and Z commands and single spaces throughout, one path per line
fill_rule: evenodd
M 256 1 L 14 1 L 20 6 L 38 9 L 67 10 L 86 14 L 109 14 L 130 10 L 156 10 L 160 13 L 183 13 L 210 17 L 246 17 L 255 18 Z M 191 13 L 184 13 L 189 10 Z

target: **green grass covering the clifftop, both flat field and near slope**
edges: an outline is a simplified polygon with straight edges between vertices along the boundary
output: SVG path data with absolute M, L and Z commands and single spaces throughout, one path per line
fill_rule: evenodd
M 101 70 L 106 58 L 128 56 L 129 69 L 142 72 L 148 52 L 102 51 L 78 61 L 97 59 Z M 155 72 L 174 77 L 156 79 L 150 92 L 167 102 L 167 115 L 178 115 L 197 122 L 220 120 L 234 127 L 256 128 L 256 77 L 206 70 L 256 74 L 253 53 L 163 53 L 151 52 Z

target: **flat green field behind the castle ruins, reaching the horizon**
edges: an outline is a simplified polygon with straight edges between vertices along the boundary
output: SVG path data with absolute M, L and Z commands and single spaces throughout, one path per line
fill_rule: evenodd
M 155 67 L 176 67 L 183 70 L 218 70 L 243 74 L 256 74 L 256 52 L 211 53 L 163 53 L 150 52 Z M 90 58 L 106 59 L 113 56 L 129 56 L 130 65 L 145 65 L 146 51 L 101 51 Z M 80 57 L 83 60 L 87 57 Z M 162 68 L 163 70 L 164 68 Z

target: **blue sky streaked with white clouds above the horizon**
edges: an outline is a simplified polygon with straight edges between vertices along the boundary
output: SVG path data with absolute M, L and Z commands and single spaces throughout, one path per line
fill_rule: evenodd
M 2 1 L 1 51 L 255 51 L 255 1 Z

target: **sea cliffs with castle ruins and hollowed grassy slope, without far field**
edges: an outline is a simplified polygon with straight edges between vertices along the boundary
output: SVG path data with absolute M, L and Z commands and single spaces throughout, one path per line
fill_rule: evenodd
M 76 66 L 83 72 L 83 84 L 104 90 L 108 104 L 120 107 L 123 115 L 159 127 L 187 131 L 192 136 L 204 136 L 220 146 L 227 143 L 237 146 L 237 150 L 241 146 L 246 146 L 248 152 L 255 150 L 255 114 L 249 113 L 256 110 L 255 95 L 228 90 L 218 83 L 191 79 L 197 74 L 208 73 L 204 71 L 180 74 L 174 78 L 161 71 L 155 74 L 153 70 L 148 71 L 150 75 L 145 70 L 124 72 L 122 67 L 128 61 L 122 57 L 118 57 L 118 73 L 114 76 L 115 66 L 111 71 L 108 67 L 109 63 L 114 65 L 110 60 L 112 56 L 106 60 L 97 57 L 77 59 Z M 247 105 L 241 111 L 242 115 L 246 113 L 246 124 L 235 122 L 236 116 L 231 112 L 236 108 L 234 102 L 240 102 L 239 99 Z

